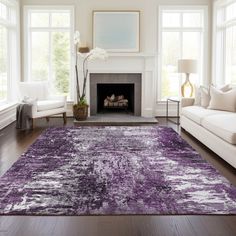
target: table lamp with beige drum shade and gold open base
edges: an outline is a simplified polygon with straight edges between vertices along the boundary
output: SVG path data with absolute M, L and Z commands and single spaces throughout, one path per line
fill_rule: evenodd
M 189 80 L 191 73 L 197 73 L 197 61 L 190 59 L 182 59 L 178 61 L 178 72 L 186 73 L 186 80 L 181 86 L 181 93 L 183 97 L 193 96 L 193 85 Z

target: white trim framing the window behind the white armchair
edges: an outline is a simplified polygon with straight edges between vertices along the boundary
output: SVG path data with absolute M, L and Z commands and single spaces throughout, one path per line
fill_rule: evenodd
M 32 11 L 57 11 L 57 10 L 69 10 L 71 13 L 71 25 L 70 25 L 70 30 L 68 31 L 68 27 L 29 27 L 29 13 Z M 68 101 L 73 101 L 74 100 L 74 31 L 75 31 L 75 7 L 74 5 L 25 5 L 23 9 L 23 24 L 24 24 L 24 81 L 32 81 L 31 80 L 31 64 L 30 64 L 30 50 L 29 50 L 29 29 L 33 28 L 34 31 L 36 32 L 37 30 L 40 31 L 63 31 L 63 29 L 66 32 L 70 32 L 71 35 L 71 40 L 70 40 L 70 47 L 71 47 L 71 52 L 70 52 L 70 58 L 71 58 L 71 68 L 70 68 L 70 81 L 69 81 L 69 97 L 67 97 Z M 50 75 L 49 75 L 50 76 Z

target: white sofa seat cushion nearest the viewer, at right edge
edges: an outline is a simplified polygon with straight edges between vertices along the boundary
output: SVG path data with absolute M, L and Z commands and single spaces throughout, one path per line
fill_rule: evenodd
M 202 126 L 228 143 L 236 144 L 235 113 L 207 116 L 202 120 Z

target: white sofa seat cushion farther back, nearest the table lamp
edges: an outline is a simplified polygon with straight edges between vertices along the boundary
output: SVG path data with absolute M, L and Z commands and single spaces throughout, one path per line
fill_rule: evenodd
M 224 114 L 224 113 L 228 114 L 229 112 L 209 110 L 201 106 L 189 106 L 189 107 L 184 107 L 182 109 L 182 115 L 186 116 L 187 118 L 196 122 L 199 125 L 201 125 L 202 119 L 204 119 L 207 116 L 215 114 Z

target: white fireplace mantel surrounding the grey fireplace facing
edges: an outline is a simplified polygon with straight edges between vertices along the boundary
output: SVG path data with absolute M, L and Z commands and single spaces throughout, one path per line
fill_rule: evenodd
M 141 116 L 154 117 L 157 87 L 157 55 L 151 53 L 109 53 L 105 61 L 89 62 L 89 73 L 140 73 L 142 75 Z M 90 74 L 86 97 L 90 104 Z

